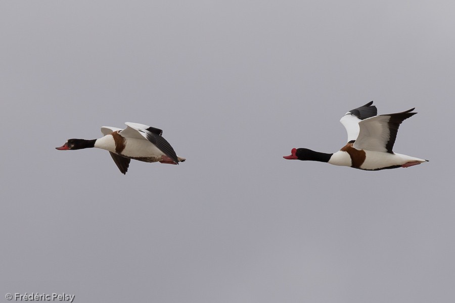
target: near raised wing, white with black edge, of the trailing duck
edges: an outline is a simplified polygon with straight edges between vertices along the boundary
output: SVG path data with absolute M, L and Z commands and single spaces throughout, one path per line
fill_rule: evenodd
M 358 123 L 360 132 L 353 147 L 357 149 L 383 151 L 393 154 L 398 127 L 401 122 L 414 116 L 415 109 L 396 114 L 379 115 L 362 120 Z

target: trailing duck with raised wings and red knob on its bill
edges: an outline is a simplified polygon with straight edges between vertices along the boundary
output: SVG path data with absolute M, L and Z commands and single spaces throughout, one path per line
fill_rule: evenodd
M 327 154 L 308 148 L 292 148 L 287 160 L 319 161 L 366 171 L 407 168 L 428 160 L 393 152 L 400 124 L 414 116 L 415 108 L 395 114 L 378 115 L 373 101 L 348 111 L 340 120 L 347 132 L 347 144 Z

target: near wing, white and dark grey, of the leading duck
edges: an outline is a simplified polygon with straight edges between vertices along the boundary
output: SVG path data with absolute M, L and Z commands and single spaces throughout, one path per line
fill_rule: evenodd
M 119 132 L 120 135 L 123 137 L 149 140 L 158 147 L 163 154 L 178 164 L 177 155 L 169 142 L 162 137 L 163 131 L 161 129 L 132 122 L 126 122 L 125 124 L 127 127 Z

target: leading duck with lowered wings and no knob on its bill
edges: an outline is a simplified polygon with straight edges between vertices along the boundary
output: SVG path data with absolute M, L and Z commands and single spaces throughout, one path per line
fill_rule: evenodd
M 163 130 L 148 125 L 125 122 L 126 128 L 103 126 L 103 137 L 93 140 L 68 139 L 58 150 L 101 148 L 109 151 L 122 174 L 126 174 L 131 159 L 142 162 L 178 164 L 185 158 L 175 154 L 169 142 L 164 139 Z

